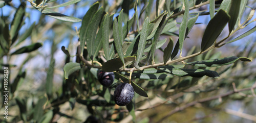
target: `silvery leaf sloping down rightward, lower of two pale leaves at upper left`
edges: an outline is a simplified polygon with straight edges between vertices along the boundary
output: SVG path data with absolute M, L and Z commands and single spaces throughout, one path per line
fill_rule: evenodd
M 55 19 L 58 19 L 58 20 L 61 20 L 61 21 L 67 21 L 67 22 L 79 22 L 79 21 L 81 21 L 81 19 L 79 19 L 79 18 L 70 17 L 70 16 L 67 16 L 67 15 L 49 10 L 49 9 L 44 9 L 44 10 L 42 10 L 41 8 L 36 8 L 36 9 L 38 11 L 40 11 L 41 13 L 45 14 L 45 15 L 48 15 L 52 18 L 55 18 Z

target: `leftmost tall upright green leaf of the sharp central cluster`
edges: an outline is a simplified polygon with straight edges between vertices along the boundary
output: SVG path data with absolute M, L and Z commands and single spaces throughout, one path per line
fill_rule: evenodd
M 99 23 L 101 20 L 101 16 L 103 14 L 103 8 L 101 7 L 92 17 L 88 25 L 88 29 L 86 32 L 86 42 L 87 42 L 87 51 L 89 57 L 93 60 L 94 53 L 96 51 L 95 45 L 99 44 L 99 42 L 95 42 L 97 29 L 99 27 Z

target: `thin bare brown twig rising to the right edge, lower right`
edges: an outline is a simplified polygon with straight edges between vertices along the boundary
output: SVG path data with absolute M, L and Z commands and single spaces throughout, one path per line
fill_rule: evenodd
M 250 88 L 243 88 L 243 89 L 240 89 L 240 90 L 236 90 L 236 91 L 229 91 L 227 93 L 224 93 L 224 94 L 221 94 L 221 95 L 217 95 L 217 96 L 212 96 L 212 97 L 208 97 L 208 98 L 205 98 L 205 99 L 201 99 L 201 100 L 198 100 L 198 101 L 193 101 L 193 102 L 190 102 L 184 106 L 181 106 L 181 107 L 177 107 L 175 108 L 174 110 L 170 111 L 170 113 L 168 113 L 166 116 L 164 116 L 163 118 L 161 118 L 158 122 L 162 122 L 164 119 L 168 118 L 169 116 L 179 112 L 179 111 L 182 111 L 190 106 L 194 106 L 198 103 L 204 103 L 204 102 L 207 102 L 207 101 L 211 101 L 211 100 L 216 100 L 216 99 L 219 99 L 220 97 L 225 97 L 225 96 L 228 96 L 228 95 L 231 95 L 233 93 L 238 93 L 238 92 L 241 92 L 241 91 L 246 91 L 246 90 L 251 90 L 251 89 L 255 89 L 256 86 L 253 86 L 253 87 L 250 87 Z

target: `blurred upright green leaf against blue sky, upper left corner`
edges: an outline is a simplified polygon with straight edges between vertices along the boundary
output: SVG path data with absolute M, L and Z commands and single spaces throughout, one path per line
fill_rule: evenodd
M 18 7 L 11 23 L 10 37 L 11 37 L 12 43 L 16 40 L 19 29 L 22 27 L 25 11 L 26 11 L 26 3 L 22 2 Z

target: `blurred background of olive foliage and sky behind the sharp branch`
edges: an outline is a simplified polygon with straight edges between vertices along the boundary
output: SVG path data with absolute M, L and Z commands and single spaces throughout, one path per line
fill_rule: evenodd
M 0 1 L 1 81 L 4 78 L 3 68 L 5 66 L 9 68 L 9 116 L 8 119 L 4 118 L 5 105 L 1 103 L 2 122 L 256 122 L 254 92 L 256 90 L 229 93 L 256 86 L 255 32 L 236 42 L 184 60 L 189 62 L 237 56 L 247 57 L 252 62 L 238 60 L 233 64 L 219 67 L 189 65 L 184 67 L 217 71 L 220 75 L 218 79 L 207 76 L 201 78 L 174 76 L 159 80 L 133 79 L 149 97 L 136 93 L 133 100 L 135 105 L 119 107 L 112 100 L 114 89 L 117 83 L 121 82 L 116 73 L 114 84 L 110 88 L 100 85 L 95 77 L 96 68 L 82 67 L 81 70 L 72 73 L 69 79 L 66 80 L 64 77 L 63 66 L 66 63 L 80 63 L 77 57 L 80 20 L 97 1 L 73 1 L 74 3 L 70 3 L 69 6 L 54 7 L 67 2 L 70 1 Z M 117 17 L 123 9 L 126 14 L 123 19 L 128 20 L 134 14 L 136 1 L 98 2 L 105 12 L 109 15 L 114 14 L 114 17 Z M 207 1 L 190 0 L 189 7 L 204 2 Z M 138 1 L 137 10 L 141 13 L 139 22 L 133 23 L 125 41 L 135 37 L 133 32 L 142 29 L 147 16 L 150 20 L 154 20 L 165 10 L 181 12 L 184 9 L 182 3 L 183 1 L 178 0 Z M 220 3 L 221 1 L 215 1 L 216 10 Z M 144 10 L 145 5 L 147 8 Z M 240 18 L 241 22 L 246 21 L 251 10 L 256 8 L 256 1 L 248 0 L 246 5 Z M 53 8 L 42 9 L 44 7 Z M 19 13 L 15 14 L 17 10 Z M 49 14 L 46 10 L 68 16 Z M 196 16 L 197 13 L 200 13 L 200 16 L 184 41 L 183 57 L 201 51 L 200 44 L 204 30 L 211 19 L 209 10 L 209 4 L 206 4 L 189 11 L 190 17 Z M 155 63 L 163 62 L 163 51 L 169 42 L 169 37 L 176 44 L 182 17 L 172 18 L 176 20 L 177 25 L 160 36 L 160 40 L 166 38 L 167 41 L 156 50 Z M 254 18 L 255 15 L 250 21 L 255 21 Z M 244 29 L 228 37 L 227 41 L 255 28 L 255 23 L 249 23 L 250 21 Z M 18 24 L 13 28 L 15 22 Z M 225 38 L 228 34 L 229 29 L 226 26 L 217 40 Z M 110 35 L 110 42 L 111 39 L 113 42 L 113 37 Z M 9 44 L 5 44 L 5 40 L 9 40 Z M 20 51 L 20 48 L 23 48 L 23 51 Z M 95 58 L 96 61 L 104 62 L 101 59 L 104 56 L 102 54 L 103 51 L 100 50 Z M 175 59 L 178 56 L 179 54 Z M 87 59 L 90 61 L 89 57 Z M 182 63 L 177 62 L 172 65 L 177 64 Z M 3 84 L 0 86 L 3 93 Z M 1 96 L 0 102 L 3 102 L 3 94 Z M 132 112 L 132 115 L 129 112 Z

